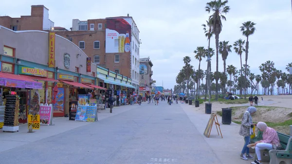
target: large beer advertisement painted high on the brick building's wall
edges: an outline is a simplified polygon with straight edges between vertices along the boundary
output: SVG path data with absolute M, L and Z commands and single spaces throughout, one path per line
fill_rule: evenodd
M 106 53 L 128 53 L 131 49 L 131 23 L 123 18 L 107 19 Z

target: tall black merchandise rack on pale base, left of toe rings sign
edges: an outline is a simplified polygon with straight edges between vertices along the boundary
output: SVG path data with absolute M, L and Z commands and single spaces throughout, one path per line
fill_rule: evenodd
M 18 110 L 19 110 L 19 96 L 6 95 L 6 104 L 4 112 L 4 126 L 3 131 L 16 132 L 19 129 L 18 123 Z

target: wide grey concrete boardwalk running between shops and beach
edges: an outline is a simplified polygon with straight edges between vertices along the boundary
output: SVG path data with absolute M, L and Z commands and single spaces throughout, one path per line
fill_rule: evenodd
M 100 111 L 100 110 L 99 110 Z M 239 126 L 203 135 L 210 115 L 186 104 L 160 102 L 102 110 L 95 123 L 55 119 L 27 133 L 0 132 L 0 164 L 250 164 L 239 159 Z M 219 123 L 220 117 L 218 117 Z

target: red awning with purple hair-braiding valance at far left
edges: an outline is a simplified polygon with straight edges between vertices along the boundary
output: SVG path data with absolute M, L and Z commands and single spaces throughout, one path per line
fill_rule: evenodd
M 13 88 L 43 89 L 42 83 L 12 73 L 0 72 L 0 85 Z

